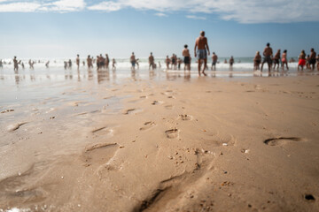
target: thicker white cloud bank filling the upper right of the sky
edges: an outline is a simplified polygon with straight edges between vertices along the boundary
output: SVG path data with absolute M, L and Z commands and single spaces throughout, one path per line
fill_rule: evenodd
M 198 14 L 214 13 L 221 19 L 240 23 L 289 23 L 319 19 L 316 0 L 117 0 L 113 4 L 118 4 L 119 8 L 131 7 L 160 13 L 186 11 L 189 16 L 196 17 Z

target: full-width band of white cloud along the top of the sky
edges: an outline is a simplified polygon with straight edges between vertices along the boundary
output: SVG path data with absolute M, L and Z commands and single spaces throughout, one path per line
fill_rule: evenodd
M 290 23 L 318 21 L 317 0 L 0 0 L 0 12 L 4 11 L 120 11 L 123 8 L 155 11 L 164 16 L 167 12 L 182 11 L 190 17 L 209 14 L 220 19 L 239 23 Z M 190 18 L 193 19 L 193 18 Z

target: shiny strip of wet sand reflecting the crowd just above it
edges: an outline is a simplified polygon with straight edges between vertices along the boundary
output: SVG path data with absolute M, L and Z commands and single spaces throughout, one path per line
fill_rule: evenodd
M 246 77 L 269 77 L 269 78 L 280 78 L 287 76 L 313 76 L 318 75 L 319 72 L 316 71 L 297 71 L 297 70 L 289 70 L 289 71 L 276 71 L 276 72 L 249 72 L 249 71 L 207 71 L 208 78 L 246 78 Z M 75 78 L 74 78 L 75 74 Z M 112 76 L 111 76 L 112 75 Z M 94 80 L 97 84 L 101 84 L 103 82 L 115 82 L 121 79 L 133 79 L 133 80 L 141 80 L 141 79 L 150 79 L 150 80 L 178 80 L 183 79 L 184 81 L 189 81 L 191 78 L 198 78 L 198 72 L 193 71 L 174 71 L 174 70 L 136 70 L 136 71 L 128 71 L 124 69 L 103 69 L 96 70 L 86 67 L 82 67 L 80 69 L 76 69 L 73 73 L 72 69 L 63 68 L 51 68 L 51 69 L 43 69 L 43 70 L 19 70 L 13 72 L 13 70 L 1 69 L 0 70 L 0 79 L 6 80 L 8 79 L 10 83 L 15 85 L 19 85 L 21 83 L 27 84 L 35 81 L 43 81 L 43 79 L 51 82 L 61 81 L 61 80 L 76 80 L 81 82 L 83 80 Z M 10 81 L 12 79 L 12 81 Z

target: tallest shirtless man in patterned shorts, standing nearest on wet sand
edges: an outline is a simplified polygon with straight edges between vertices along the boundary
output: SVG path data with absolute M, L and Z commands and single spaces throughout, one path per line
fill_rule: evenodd
M 205 70 L 207 65 L 207 52 L 209 53 L 209 47 L 205 32 L 201 31 L 200 36 L 196 39 L 194 47 L 194 55 L 198 58 L 198 75 L 200 76 L 201 61 L 204 60 L 204 68 L 202 73 L 206 76 Z

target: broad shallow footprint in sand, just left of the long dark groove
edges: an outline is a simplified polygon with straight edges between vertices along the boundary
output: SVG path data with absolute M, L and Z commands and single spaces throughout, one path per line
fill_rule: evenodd
M 119 145 L 117 143 L 100 143 L 86 148 L 82 153 L 84 166 L 107 163 L 118 149 Z

